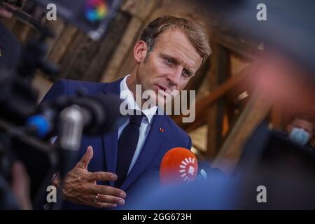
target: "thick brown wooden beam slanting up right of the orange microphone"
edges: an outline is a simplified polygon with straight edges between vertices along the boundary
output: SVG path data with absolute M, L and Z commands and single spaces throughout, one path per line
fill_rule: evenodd
M 244 111 L 242 111 L 237 123 L 232 128 L 221 150 L 214 160 L 213 167 L 230 174 L 242 153 L 242 149 L 248 137 L 251 136 L 255 127 L 265 118 L 272 106 L 272 100 L 268 99 L 263 92 L 255 92 Z

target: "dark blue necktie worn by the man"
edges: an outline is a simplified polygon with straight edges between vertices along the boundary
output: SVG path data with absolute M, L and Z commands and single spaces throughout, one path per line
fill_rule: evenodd
M 141 113 L 140 111 L 137 111 Z M 138 141 L 139 141 L 139 128 L 141 125 L 144 113 L 137 115 L 134 111 L 134 115 L 130 115 L 130 121 L 120 134 L 118 139 L 118 155 L 117 155 L 117 167 L 116 174 L 118 176 L 115 181 L 115 187 L 120 188 L 121 184 L 127 176 L 128 169 L 134 157 Z

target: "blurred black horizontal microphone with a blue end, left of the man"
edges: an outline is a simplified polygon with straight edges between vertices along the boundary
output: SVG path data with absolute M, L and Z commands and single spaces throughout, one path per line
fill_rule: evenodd
M 125 121 L 126 117 L 120 113 L 120 104 L 119 97 L 104 94 L 60 97 L 43 102 L 39 108 L 41 112 L 29 117 L 26 125 L 34 127 L 38 137 L 46 137 L 52 132 L 59 135 L 63 130 L 73 130 L 72 126 L 66 127 L 71 125 L 68 121 L 77 120 L 77 114 L 80 113 L 80 129 L 83 129 L 84 134 L 103 134 L 119 127 Z

